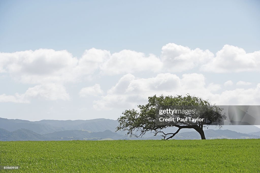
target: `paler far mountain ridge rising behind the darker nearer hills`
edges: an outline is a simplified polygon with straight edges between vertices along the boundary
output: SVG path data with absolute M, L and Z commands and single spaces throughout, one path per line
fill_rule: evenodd
M 47 134 L 52 132 L 59 132 L 64 130 L 88 130 L 90 132 L 103 132 L 110 130 L 115 132 L 118 126 L 118 121 L 110 119 L 93 119 L 93 120 L 41 120 L 41 121 L 27 121 L 19 119 L 5 119 L 0 118 L 0 128 L 15 131 L 18 129 L 28 129 L 38 134 Z M 217 130 L 216 126 L 208 126 L 208 129 Z M 172 132 L 172 130 L 178 128 L 168 128 L 166 132 Z M 204 128 L 207 130 L 207 128 Z M 259 132 L 260 128 L 256 126 L 238 126 L 230 125 L 223 126 L 222 130 L 232 130 L 239 133 L 253 133 Z M 181 129 L 180 132 L 192 132 L 194 129 Z M 118 134 L 124 135 L 124 132 L 117 132 Z M 153 134 L 147 134 L 146 137 L 152 137 Z

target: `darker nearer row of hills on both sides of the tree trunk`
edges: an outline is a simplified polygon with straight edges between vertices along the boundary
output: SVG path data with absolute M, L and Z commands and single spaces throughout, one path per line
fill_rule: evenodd
M 231 130 L 205 130 L 206 139 L 258 139 L 260 136 L 243 134 Z M 103 132 L 89 132 L 84 130 L 64 130 L 48 134 L 37 134 L 31 130 L 18 129 L 13 132 L 0 129 L 0 141 L 69 141 L 69 140 L 146 140 L 161 139 L 161 136 L 129 138 L 110 130 Z M 178 133 L 173 139 L 201 139 L 198 132 Z

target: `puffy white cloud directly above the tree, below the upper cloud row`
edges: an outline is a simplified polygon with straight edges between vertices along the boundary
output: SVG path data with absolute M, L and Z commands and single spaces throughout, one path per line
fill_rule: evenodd
M 94 101 L 96 109 L 111 109 L 118 107 L 133 107 L 145 103 L 148 96 L 176 95 L 193 93 L 205 85 L 202 74 L 184 74 L 182 79 L 171 73 L 161 73 L 153 78 L 136 78 L 132 74 L 124 75 L 108 90 L 107 95 Z M 184 92 L 185 91 L 185 92 Z

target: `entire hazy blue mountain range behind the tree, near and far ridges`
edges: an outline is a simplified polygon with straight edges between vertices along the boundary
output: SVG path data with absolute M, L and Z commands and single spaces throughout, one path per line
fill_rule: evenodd
M 60 140 L 144 140 L 161 139 L 147 133 L 142 138 L 125 136 L 125 132 L 115 132 L 118 121 L 110 119 L 93 120 L 41 120 L 28 121 L 0 118 L 0 141 L 60 141 Z M 165 132 L 177 129 L 167 128 Z M 260 138 L 260 128 L 256 126 L 209 126 L 204 129 L 206 139 L 252 139 Z M 173 139 L 200 139 L 194 129 L 181 129 Z

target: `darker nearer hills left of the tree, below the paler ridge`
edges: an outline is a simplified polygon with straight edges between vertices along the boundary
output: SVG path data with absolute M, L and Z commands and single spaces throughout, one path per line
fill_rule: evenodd
M 104 132 L 88 132 L 84 130 L 64 130 L 47 134 L 38 134 L 27 129 L 9 132 L 0 129 L 0 141 L 68 141 L 68 140 L 118 140 L 124 136 L 110 130 Z

